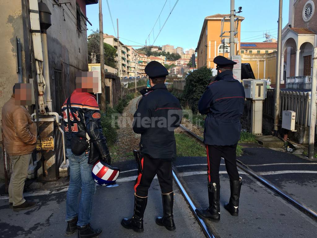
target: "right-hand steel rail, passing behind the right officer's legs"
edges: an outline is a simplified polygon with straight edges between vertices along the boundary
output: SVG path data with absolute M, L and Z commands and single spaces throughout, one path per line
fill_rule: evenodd
M 181 128 L 182 131 L 184 131 L 185 133 L 187 133 L 188 135 L 190 135 L 191 137 L 196 139 L 201 145 L 205 146 L 204 140 L 202 138 L 197 136 L 195 133 L 192 133 L 190 130 L 188 130 L 183 125 L 180 125 L 179 127 Z M 271 190 L 273 190 L 274 192 L 279 194 L 282 198 L 286 199 L 288 202 L 290 202 L 294 207 L 298 208 L 304 214 L 307 214 L 307 215 L 311 216 L 312 218 L 317 219 L 317 212 L 316 211 L 314 211 L 313 209 L 307 207 L 307 205 L 302 203 L 301 201 L 298 201 L 297 199 L 293 198 L 287 192 L 282 191 L 281 188 L 275 186 L 274 184 L 272 184 L 271 182 L 269 182 L 268 180 L 266 180 L 262 176 L 256 174 L 255 171 L 250 169 L 248 166 L 243 164 L 241 161 L 239 161 L 239 160 L 236 160 L 236 161 L 237 161 L 237 166 L 240 169 L 242 169 L 244 172 L 248 173 L 253 178 L 255 178 L 256 180 L 258 180 L 262 184 L 264 184 L 266 187 L 270 188 Z

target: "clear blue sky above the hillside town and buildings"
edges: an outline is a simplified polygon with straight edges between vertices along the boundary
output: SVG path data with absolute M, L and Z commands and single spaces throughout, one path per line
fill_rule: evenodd
M 171 44 L 185 49 L 197 46 L 200 31 L 206 16 L 213 14 L 229 14 L 230 0 L 179 0 L 165 26 L 161 30 L 170 10 L 177 0 L 108 0 L 115 32 L 119 18 L 119 37 L 127 45 L 137 43 L 154 45 Z M 242 6 L 241 16 L 245 17 L 241 24 L 241 41 L 263 41 L 263 33 L 267 30 L 277 37 L 278 0 L 236 0 L 235 9 Z M 283 1 L 283 27 L 288 23 L 288 2 Z M 162 10 L 159 20 L 155 24 Z M 88 25 L 87 34 L 99 28 L 98 4 L 87 6 L 87 17 L 93 26 Z M 107 0 L 102 0 L 103 31 L 115 36 Z M 155 24 L 155 25 L 154 25 Z M 154 26 L 154 34 L 152 28 Z M 217 30 L 218 31 L 218 30 Z M 150 37 L 149 36 L 149 33 Z M 220 29 L 219 29 L 220 33 Z M 133 42 L 134 41 L 134 42 Z M 135 43 L 137 42 L 137 43 Z M 138 47 L 135 47 L 138 48 Z

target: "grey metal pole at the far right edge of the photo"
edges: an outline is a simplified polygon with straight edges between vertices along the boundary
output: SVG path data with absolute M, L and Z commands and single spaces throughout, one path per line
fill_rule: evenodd
M 313 55 L 312 94 L 310 96 L 310 124 L 308 138 L 308 159 L 314 160 L 315 124 L 316 124 L 316 87 L 317 87 L 317 47 Z

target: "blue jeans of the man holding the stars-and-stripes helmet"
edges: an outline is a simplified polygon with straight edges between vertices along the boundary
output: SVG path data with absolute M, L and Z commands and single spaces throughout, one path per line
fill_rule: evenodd
M 67 149 L 70 168 L 69 188 L 66 200 L 66 221 L 78 216 L 77 226 L 83 227 L 90 222 L 93 196 L 96 183 L 91 176 L 93 165 L 88 164 L 88 154 L 76 156 Z M 78 205 L 78 195 L 81 198 Z

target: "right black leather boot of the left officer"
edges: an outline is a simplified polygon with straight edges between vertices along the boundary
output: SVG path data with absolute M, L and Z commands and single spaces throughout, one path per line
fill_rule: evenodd
M 176 229 L 174 224 L 173 217 L 173 202 L 174 202 L 174 193 L 162 194 L 163 201 L 163 217 L 156 218 L 156 224 L 159 226 L 165 226 L 169 231 Z

